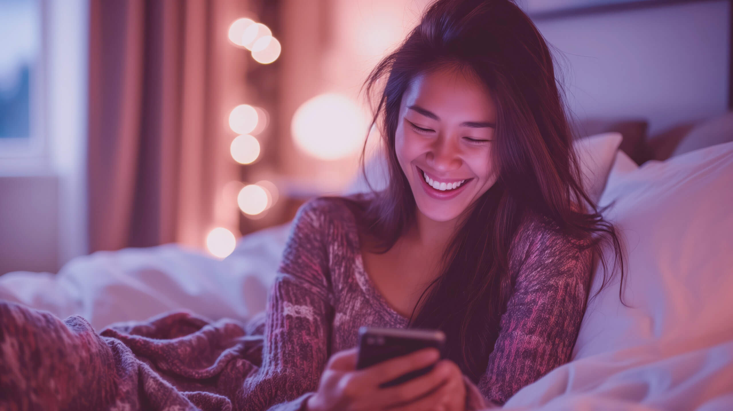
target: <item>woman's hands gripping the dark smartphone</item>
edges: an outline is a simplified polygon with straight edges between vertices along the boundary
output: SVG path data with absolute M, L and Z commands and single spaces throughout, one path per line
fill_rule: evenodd
M 436 349 L 421 349 L 356 369 L 357 349 L 337 352 L 328 361 L 317 392 L 306 404 L 309 411 L 463 411 L 465 385 L 460 369 L 442 360 L 428 374 L 388 388 L 380 384 L 438 360 Z

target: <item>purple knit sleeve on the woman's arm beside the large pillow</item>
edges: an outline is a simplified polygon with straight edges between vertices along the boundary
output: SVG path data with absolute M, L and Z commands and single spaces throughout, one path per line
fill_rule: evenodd
M 592 251 L 549 223 L 518 236 L 510 266 L 515 288 L 479 390 L 504 404 L 517 390 L 570 360 L 586 307 Z

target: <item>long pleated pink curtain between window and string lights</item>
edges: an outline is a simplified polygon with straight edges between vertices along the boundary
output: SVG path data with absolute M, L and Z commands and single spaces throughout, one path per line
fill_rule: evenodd
M 92 0 L 89 33 L 90 251 L 182 242 L 236 228 L 231 109 L 245 51 L 228 38 L 236 0 Z

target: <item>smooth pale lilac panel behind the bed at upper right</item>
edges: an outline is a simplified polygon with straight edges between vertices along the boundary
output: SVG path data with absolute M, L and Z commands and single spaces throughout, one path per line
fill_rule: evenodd
M 728 106 L 730 1 L 537 21 L 559 49 L 568 103 L 585 116 L 639 116 L 649 133 Z

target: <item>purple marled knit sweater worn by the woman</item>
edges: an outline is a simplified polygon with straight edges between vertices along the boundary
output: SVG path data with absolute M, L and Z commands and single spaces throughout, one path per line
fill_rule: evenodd
M 468 409 L 504 404 L 570 360 L 592 260 L 577 245 L 542 218 L 520 225 L 509 259 L 515 289 L 485 374 L 478 386 L 464 378 Z M 263 367 L 287 376 L 293 392 L 314 390 L 328 357 L 356 346 L 358 327 L 404 328 L 408 321 L 365 272 L 356 218 L 344 201 L 304 204 L 270 295 Z

